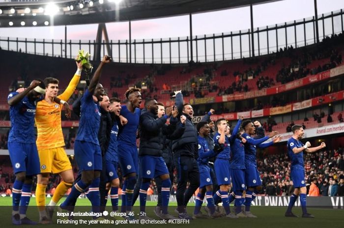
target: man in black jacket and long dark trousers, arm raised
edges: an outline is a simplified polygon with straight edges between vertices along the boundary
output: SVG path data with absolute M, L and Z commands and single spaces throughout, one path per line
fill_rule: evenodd
M 175 105 L 178 107 L 178 112 L 186 117 L 184 134 L 180 139 L 174 140 L 172 145 L 174 165 L 178 177 L 177 212 L 180 219 L 190 220 L 192 217 L 186 213 L 186 205 L 200 186 L 200 173 L 195 159 L 198 153 L 197 129 L 192 123 L 194 110 L 191 104 L 183 103 L 181 91 L 175 92 Z M 188 181 L 190 185 L 186 189 Z

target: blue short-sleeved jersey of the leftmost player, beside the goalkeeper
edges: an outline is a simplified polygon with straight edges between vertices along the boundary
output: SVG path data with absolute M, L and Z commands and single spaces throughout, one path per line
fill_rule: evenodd
M 10 100 L 19 93 L 10 93 L 7 100 Z M 25 96 L 16 105 L 10 106 L 9 117 L 11 129 L 8 135 L 8 142 L 35 143 L 34 116 L 36 113 L 37 101 L 29 101 Z

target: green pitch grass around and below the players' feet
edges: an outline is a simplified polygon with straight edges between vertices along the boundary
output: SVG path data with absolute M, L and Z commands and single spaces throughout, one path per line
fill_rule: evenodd
M 50 199 L 47 199 L 47 202 Z M 63 201 L 63 199 L 62 199 Z M 0 227 L 7 228 L 7 227 L 14 227 L 11 225 L 11 202 L 12 198 L 10 197 L 1 197 L 0 198 Z M 77 204 L 79 207 L 76 207 L 75 211 L 80 212 L 89 212 L 90 211 L 90 203 L 87 199 L 78 199 Z M 108 202 L 109 204 L 109 202 Z M 136 203 L 138 204 L 138 202 Z M 28 217 L 32 220 L 38 220 L 38 213 L 37 208 L 35 205 L 35 199 L 32 198 L 30 201 L 30 206 L 28 209 Z M 85 206 L 87 205 L 87 206 Z M 120 205 L 120 203 L 119 203 Z M 147 202 L 147 216 L 152 219 L 158 219 L 155 214 L 153 213 L 154 206 L 156 202 Z M 169 208 L 169 212 L 172 215 L 176 215 L 174 212 L 175 203 L 171 203 L 171 207 Z M 232 207 L 231 207 L 232 208 Z M 111 211 L 111 206 L 107 207 L 107 210 Z M 189 214 L 192 214 L 194 210 L 194 206 L 188 206 L 187 211 Z M 203 209 L 202 209 L 203 210 Z M 117 226 L 120 227 L 155 227 L 155 228 L 343 228 L 344 227 L 344 210 L 343 209 L 332 209 L 332 208 L 309 208 L 309 212 L 315 216 L 315 219 L 305 219 L 305 218 L 286 218 L 284 217 L 284 213 L 286 211 L 286 207 L 268 207 L 268 206 L 252 206 L 251 207 L 252 213 L 257 215 L 258 218 L 241 218 L 241 219 L 227 219 L 227 218 L 219 218 L 219 219 L 198 219 L 198 220 L 191 220 L 189 224 L 119 224 Z M 139 218 L 138 213 L 140 211 L 138 206 L 134 207 L 134 211 L 136 214 L 136 218 Z M 296 207 L 293 209 L 293 212 L 301 216 L 301 208 Z M 204 212 L 203 212 L 204 213 Z M 56 224 L 57 223 L 57 216 L 56 213 L 54 215 L 54 223 L 53 225 L 46 225 L 50 228 L 75 228 L 76 226 L 81 227 L 94 227 L 94 228 L 113 228 L 116 226 L 115 224 L 100 224 L 100 221 L 97 221 L 98 224 Z M 62 219 L 62 218 L 61 218 Z M 89 220 L 88 217 L 78 217 L 77 220 L 83 219 Z M 117 221 L 115 222 L 126 222 L 121 217 L 115 217 Z M 42 225 L 38 225 L 42 227 Z M 33 226 L 25 226 L 27 228 Z

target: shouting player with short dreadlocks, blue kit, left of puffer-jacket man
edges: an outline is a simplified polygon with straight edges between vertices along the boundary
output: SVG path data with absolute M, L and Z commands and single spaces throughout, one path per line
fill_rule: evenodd
M 136 175 L 139 171 L 136 135 L 141 115 L 142 96 L 140 91 L 141 89 L 134 87 L 125 92 L 127 102 L 122 105 L 120 115 L 127 119 L 127 124 L 119 127 L 118 131 L 118 145 L 120 145 L 118 147 L 118 161 L 125 178 L 122 186 L 121 211 L 126 213 L 128 219 L 134 219 L 133 216 L 128 215 L 132 210 Z

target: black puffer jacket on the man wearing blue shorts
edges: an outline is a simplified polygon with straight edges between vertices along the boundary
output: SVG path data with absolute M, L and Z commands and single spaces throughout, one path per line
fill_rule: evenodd
M 166 125 L 166 117 L 158 118 L 147 111 L 140 117 L 140 150 L 139 155 L 162 156 L 163 135 L 168 139 L 179 138 L 185 127 L 176 119 L 170 119 L 170 125 Z

